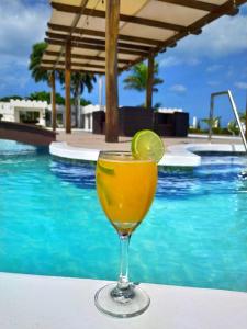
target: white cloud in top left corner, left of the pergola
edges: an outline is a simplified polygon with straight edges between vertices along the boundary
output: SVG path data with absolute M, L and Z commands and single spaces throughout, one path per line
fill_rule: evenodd
M 42 2 L 0 1 L 0 69 L 27 66 L 32 45 L 44 39 L 49 7 Z

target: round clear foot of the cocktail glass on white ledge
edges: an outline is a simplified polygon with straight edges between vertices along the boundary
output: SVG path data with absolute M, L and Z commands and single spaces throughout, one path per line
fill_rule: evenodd
M 105 285 L 96 293 L 96 306 L 99 310 L 116 318 L 131 318 L 144 313 L 150 298 L 137 285 L 131 284 L 120 290 L 115 283 Z

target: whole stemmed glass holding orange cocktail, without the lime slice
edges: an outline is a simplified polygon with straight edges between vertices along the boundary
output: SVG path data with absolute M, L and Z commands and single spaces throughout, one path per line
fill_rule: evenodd
M 151 159 L 137 160 L 131 152 L 101 151 L 96 182 L 101 206 L 121 243 L 119 282 L 97 292 L 96 306 L 119 318 L 137 316 L 148 308 L 150 299 L 138 285 L 128 281 L 128 243 L 151 205 L 157 163 Z

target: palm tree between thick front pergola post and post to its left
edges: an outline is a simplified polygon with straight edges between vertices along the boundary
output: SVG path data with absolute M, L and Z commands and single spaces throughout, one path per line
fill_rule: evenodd
M 78 114 L 80 109 L 80 97 L 87 88 L 90 93 L 96 82 L 96 76 L 92 73 L 72 72 L 71 75 L 71 92 L 74 95 L 74 104 L 76 109 L 76 126 L 78 126 Z

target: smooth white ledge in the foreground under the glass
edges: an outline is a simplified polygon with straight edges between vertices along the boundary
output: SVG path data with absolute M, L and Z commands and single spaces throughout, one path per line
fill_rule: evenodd
M 2 329 L 245 329 L 247 294 L 142 284 L 150 296 L 141 316 L 116 319 L 98 311 L 104 281 L 0 273 Z

